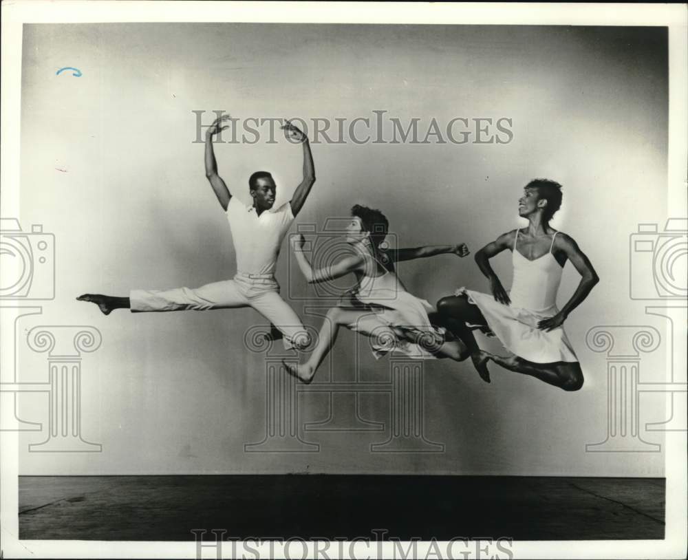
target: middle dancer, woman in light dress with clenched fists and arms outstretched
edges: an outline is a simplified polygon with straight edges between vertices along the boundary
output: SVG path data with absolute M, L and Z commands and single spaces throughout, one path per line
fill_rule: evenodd
M 304 383 L 310 383 L 316 370 L 330 351 L 339 327 L 347 327 L 372 338 L 374 356 L 387 352 L 403 352 L 411 358 L 452 358 L 465 360 L 469 353 L 458 340 L 446 341 L 444 332 L 433 327 L 429 314 L 435 308 L 407 292 L 396 277 L 393 261 L 425 257 L 440 252 L 455 252 L 461 257 L 468 254 L 464 244 L 433 250 L 420 248 L 402 250 L 407 254 L 390 255 L 380 249 L 387 236 L 387 218 L 378 210 L 365 206 L 352 208 L 352 221 L 347 226 L 346 241 L 354 248 L 354 255 L 345 257 L 332 266 L 313 270 L 303 253 L 303 235 L 294 247 L 295 257 L 308 283 L 323 282 L 349 272 L 356 274 L 358 286 L 354 292 L 356 307 L 338 306 L 327 312 L 318 342 L 305 363 L 294 365 L 284 361 L 290 374 Z

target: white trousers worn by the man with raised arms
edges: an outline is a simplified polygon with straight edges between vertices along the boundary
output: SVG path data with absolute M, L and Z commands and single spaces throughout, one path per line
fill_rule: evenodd
M 279 284 L 272 274 L 237 272 L 233 280 L 223 280 L 200 288 L 171 290 L 131 290 L 132 312 L 211 310 L 250 307 L 275 325 L 283 335 L 284 347 L 306 334 L 299 316 L 279 296 Z

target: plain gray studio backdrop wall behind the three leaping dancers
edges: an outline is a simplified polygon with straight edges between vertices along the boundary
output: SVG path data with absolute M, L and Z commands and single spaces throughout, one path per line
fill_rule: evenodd
M 47 377 L 46 354 L 25 338 L 32 327 L 95 327 L 103 342 L 81 355 L 77 412 L 80 438 L 102 447 L 29 451 L 47 437 L 51 409 L 45 395 L 20 394 L 21 418 L 45 429 L 23 433 L 19 472 L 663 475 L 661 433 L 642 436 L 656 444 L 653 452 L 586 452 L 608 435 L 609 404 L 606 354 L 592 352 L 586 333 L 649 323 L 664 334 L 663 322 L 629 297 L 629 239 L 638 224 L 661 227 L 667 217 L 666 37 L 661 28 L 25 25 L 19 218 L 24 229 L 42 224 L 54 234 L 56 290 L 40 316 L 18 323 L 17 377 Z M 63 67 L 80 76 L 57 75 Z M 496 366 L 486 385 L 469 363 L 434 360 L 424 363 L 422 394 L 409 405 L 385 389 L 390 361 L 374 360 L 365 341 L 357 347 L 356 336 L 343 332 L 320 380 L 349 383 L 349 391 L 302 386 L 279 405 L 293 414 L 286 420 L 287 431 L 297 429 L 292 451 L 305 452 L 246 446 L 284 429 L 266 417 L 266 402 L 276 398 L 266 393 L 275 375 L 266 359 L 275 362 L 244 342 L 251 327 L 266 323 L 255 311 L 105 317 L 74 301 L 83 292 L 127 295 L 233 275 L 229 226 L 195 142 L 197 118 L 209 124 L 219 109 L 239 125 L 344 119 L 343 142 L 312 145 L 317 182 L 297 222 L 316 230 L 366 204 L 387 215 L 400 246 L 464 241 L 475 252 L 519 225 L 517 200 L 528 180 L 561 182 L 563 207 L 552 225 L 577 239 L 601 277 L 566 322 L 583 389 L 566 393 Z M 382 142 L 374 142 L 378 115 Z M 369 118 L 369 142 L 349 138 L 358 117 Z M 389 141 L 389 118 L 404 128 L 418 118 L 418 142 Z M 444 143 L 426 138 L 433 118 Z M 468 122 L 453 129 L 465 143 L 447 138 L 454 118 Z M 509 133 L 495 127 L 502 118 Z M 475 119 L 492 119 L 480 121 L 488 131 L 477 133 Z M 268 125 L 250 126 L 259 141 L 246 133 L 246 142 L 215 146 L 219 173 L 248 204 L 250 173 L 272 171 L 282 204 L 301 180 L 301 147 L 279 131 L 268 142 Z M 354 133 L 365 140 L 365 122 Z M 329 136 L 336 140 L 336 129 Z M 327 302 L 288 270 L 289 257 L 285 242 L 277 270 L 283 294 L 318 327 L 321 319 L 304 306 Z M 495 269 L 509 286 L 510 255 Z M 487 290 L 472 255 L 403 263 L 399 274 L 431 302 L 460 286 Z M 567 264 L 560 305 L 577 281 Z M 660 345 L 642 356 L 641 376 L 663 378 L 664 352 Z M 663 402 L 643 396 L 641 430 L 664 419 Z M 420 452 L 372 448 L 390 439 L 404 406 L 420 414 L 406 427 L 421 429 Z

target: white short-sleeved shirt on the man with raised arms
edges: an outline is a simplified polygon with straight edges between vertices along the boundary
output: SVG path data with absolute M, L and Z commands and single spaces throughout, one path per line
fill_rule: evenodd
M 273 206 L 257 215 L 253 206 L 244 206 L 233 196 L 226 214 L 237 254 L 237 272 L 275 274 L 282 239 L 294 220 L 291 204 Z

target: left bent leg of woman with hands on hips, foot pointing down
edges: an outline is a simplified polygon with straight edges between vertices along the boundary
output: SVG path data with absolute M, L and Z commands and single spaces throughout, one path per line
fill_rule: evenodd
M 486 383 L 490 383 L 487 361 L 491 355 L 478 347 L 475 336 L 473 336 L 473 330 L 466 325 L 466 323 L 471 323 L 471 325 L 487 326 L 487 321 L 480 310 L 477 306 L 469 303 L 466 296 L 443 297 L 437 302 L 437 309 L 442 326 L 449 329 L 455 336 L 458 336 L 466 345 L 478 375 Z

